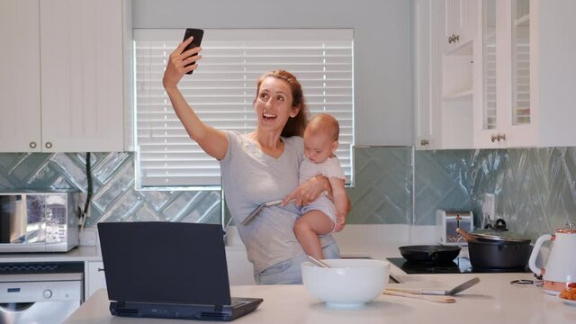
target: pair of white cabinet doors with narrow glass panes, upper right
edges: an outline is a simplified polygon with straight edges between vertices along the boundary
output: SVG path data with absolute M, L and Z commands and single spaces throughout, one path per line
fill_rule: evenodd
M 475 58 L 482 94 L 475 104 L 477 148 L 537 144 L 531 106 L 529 0 L 482 1 L 482 48 Z

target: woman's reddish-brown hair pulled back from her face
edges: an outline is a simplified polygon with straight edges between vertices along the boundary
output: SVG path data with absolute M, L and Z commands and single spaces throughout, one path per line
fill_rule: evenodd
M 256 97 L 258 97 L 258 93 L 260 92 L 260 85 L 262 85 L 262 82 L 266 79 L 266 77 L 275 77 L 277 79 L 286 81 L 292 90 L 292 106 L 300 108 L 298 114 L 295 117 L 288 119 L 286 125 L 284 125 L 281 136 L 302 136 L 304 134 L 304 129 L 306 129 L 306 124 L 308 123 L 308 107 L 306 105 L 306 101 L 304 100 L 304 94 L 302 93 L 302 85 L 300 85 L 300 82 L 298 82 L 296 76 L 293 76 L 293 74 L 288 71 L 275 70 L 272 72 L 267 72 L 260 76 L 258 79 Z M 255 99 L 255 102 L 256 100 L 257 99 Z

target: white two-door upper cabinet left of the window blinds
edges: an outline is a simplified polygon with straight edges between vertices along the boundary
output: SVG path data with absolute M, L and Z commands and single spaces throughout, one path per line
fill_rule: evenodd
M 11 45 L 0 53 L 0 151 L 124 150 L 129 7 L 116 0 L 0 3 L 0 40 Z

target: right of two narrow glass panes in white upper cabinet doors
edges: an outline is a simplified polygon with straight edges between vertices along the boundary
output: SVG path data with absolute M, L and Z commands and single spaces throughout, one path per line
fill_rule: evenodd
M 530 123 L 530 1 L 512 1 L 512 124 Z

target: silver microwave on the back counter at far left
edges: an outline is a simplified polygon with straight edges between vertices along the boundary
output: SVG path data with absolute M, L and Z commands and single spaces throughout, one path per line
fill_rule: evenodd
M 81 195 L 0 192 L 0 253 L 67 252 L 76 247 Z

